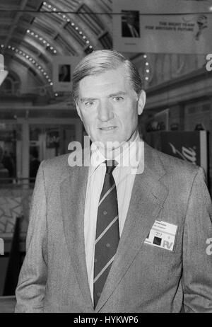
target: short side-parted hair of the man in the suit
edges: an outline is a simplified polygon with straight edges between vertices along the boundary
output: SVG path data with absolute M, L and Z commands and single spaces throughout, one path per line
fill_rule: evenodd
M 76 101 L 78 98 L 78 84 L 84 77 L 117 69 L 122 64 L 128 69 L 131 86 L 139 95 L 142 90 L 142 81 L 135 65 L 115 50 L 96 50 L 84 57 L 73 71 L 72 95 L 74 100 Z

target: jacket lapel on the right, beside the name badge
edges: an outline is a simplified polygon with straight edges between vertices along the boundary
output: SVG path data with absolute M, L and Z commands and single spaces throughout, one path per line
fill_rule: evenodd
M 167 188 L 160 182 L 160 178 L 165 175 L 165 170 L 157 152 L 146 145 L 144 154 L 144 171 L 136 175 L 119 247 L 95 308 L 97 312 L 100 311 L 124 277 L 167 197 Z

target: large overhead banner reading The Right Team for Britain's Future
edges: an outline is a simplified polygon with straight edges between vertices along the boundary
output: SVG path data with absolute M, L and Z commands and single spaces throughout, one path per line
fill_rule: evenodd
M 121 52 L 212 53 L 208 1 L 113 0 L 113 44 Z

